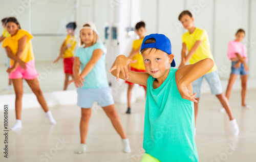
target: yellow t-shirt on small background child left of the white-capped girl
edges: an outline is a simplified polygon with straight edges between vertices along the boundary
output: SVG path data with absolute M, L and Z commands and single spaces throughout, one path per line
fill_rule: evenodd
M 75 55 L 75 47 L 76 47 L 76 37 L 75 36 L 70 36 L 69 34 L 67 35 L 65 39 L 65 46 L 68 47 L 67 50 L 64 51 L 63 53 L 63 58 L 70 58 Z

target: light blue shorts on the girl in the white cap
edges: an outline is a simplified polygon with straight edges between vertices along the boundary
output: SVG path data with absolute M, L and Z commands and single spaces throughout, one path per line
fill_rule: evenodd
M 97 102 L 101 107 L 115 104 L 110 87 L 77 88 L 77 105 L 91 108 Z

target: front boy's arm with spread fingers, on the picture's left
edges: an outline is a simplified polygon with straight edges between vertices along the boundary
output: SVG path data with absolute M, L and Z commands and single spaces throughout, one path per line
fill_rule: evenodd
M 111 74 L 119 80 L 127 80 L 132 83 L 146 86 L 147 79 L 150 76 L 148 73 L 137 73 L 129 71 L 127 66 L 130 63 L 135 63 L 137 60 L 126 58 L 124 55 L 119 55 L 111 67 Z M 121 74 L 122 73 L 122 74 Z

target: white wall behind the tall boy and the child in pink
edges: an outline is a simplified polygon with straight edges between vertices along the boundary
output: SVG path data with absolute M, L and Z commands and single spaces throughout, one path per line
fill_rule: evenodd
M 208 33 L 211 52 L 222 79 L 229 78 L 230 74 L 231 65 L 227 59 L 228 41 L 235 38 L 234 34 L 239 28 L 243 28 L 246 31 L 243 43 L 248 50 L 249 78 L 256 78 L 256 67 L 252 65 L 252 60 L 256 58 L 253 55 L 256 52 L 256 32 L 253 30 L 256 27 L 256 2 L 251 1 L 250 4 L 250 1 L 141 0 L 141 19 L 146 22 L 148 33 L 163 33 L 170 39 L 176 64 L 179 65 L 181 35 L 186 31 L 181 26 L 178 16 L 183 10 L 191 11 L 195 17 L 195 26 L 205 29 Z

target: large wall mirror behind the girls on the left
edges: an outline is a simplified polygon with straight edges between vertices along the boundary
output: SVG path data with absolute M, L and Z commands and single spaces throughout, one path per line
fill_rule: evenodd
M 14 3 L 15 2 L 15 3 Z M 2 2 L 3 3 L 3 2 Z M 58 57 L 62 42 L 67 37 L 66 25 L 76 22 L 74 35 L 77 39 L 76 47 L 79 47 L 79 28 L 86 21 L 97 24 L 99 37 L 104 38 L 104 24 L 108 21 L 108 1 L 87 0 L 48 0 L 48 1 L 6 1 L 1 5 L 1 19 L 14 16 L 20 27 L 33 35 L 32 45 L 35 57 L 35 67 L 42 91 L 62 90 L 65 81 L 63 72 L 63 60 L 58 63 L 53 61 Z M 1 32 L 3 27 L 1 26 Z M 2 43 L 1 43 L 2 46 Z M 4 48 L 0 49 L 1 66 L 1 94 L 14 94 L 13 88 L 8 87 L 7 55 Z M 70 77 L 69 80 L 72 78 Z M 24 92 L 32 92 L 24 81 Z M 75 89 L 71 83 L 68 90 Z

